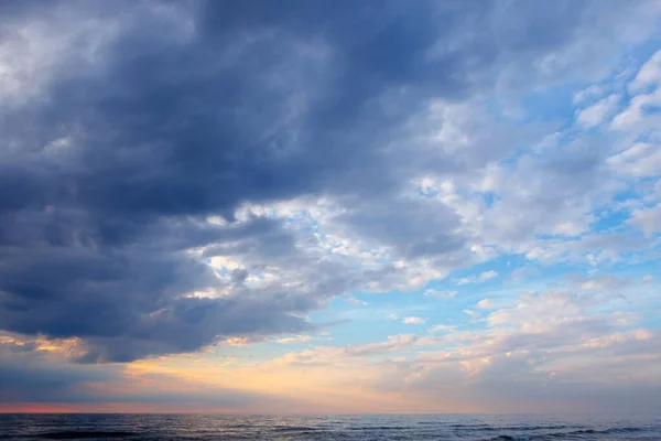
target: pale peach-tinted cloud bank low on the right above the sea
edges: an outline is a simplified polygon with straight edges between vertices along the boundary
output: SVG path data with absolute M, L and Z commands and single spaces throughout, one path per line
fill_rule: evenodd
M 610 306 L 617 303 L 611 302 L 618 298 L 550 291 L 510 300 L 507 308 L 489 315 L 488 326 L 481 330 L 436 325 L 429 331 L 440 335 L 398 336 L 369 345 L 300 353 L 292 359 L 300 357 L 312 366 L 319 361 L 334 366 L 354 363 L 350 366 L 369 378 L 373 390 L 384 388 L 413 400 L 434 399 L 441 391 L 465 396 L 468 387 L 480 404 L 496 394 L 495 406 L 502 406 L 502 394 L 507 394 L 508 406 L 516 401 L 511 397 L 522 398 L 522 406 L 530 406 L 530 399 L 546 402 L 554 397 L 566 407 L 578 395 L 613 394 L 608 385 L 614 384 L 622 388 L 615 396 L 638 397 L 632 387 L 650 387 L 661 380 L 661 335 L 635 326 L 635 314 L 613 311 Z M 414 356 L 358 364 L 360 357 L 408 347 L 416 349 Z M 598 401 L 586 402 L 594 406 Z

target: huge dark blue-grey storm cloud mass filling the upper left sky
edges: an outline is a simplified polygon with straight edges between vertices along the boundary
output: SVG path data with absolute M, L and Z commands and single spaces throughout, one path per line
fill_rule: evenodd
M 2 109 L 1 327 L 83 337 L 84 362 L 310 330 L 303 314 L 354 282 L 330 260 L 299 288 L 249 290 L 238 272 L 229 295 L 182 297 L 227 288 L 192 247 L 310 267 L 278 222 L 206 216 L 234 223 L 241 203 L 321 193 L 386 207 L 412 168 L 452 163 L 382 149 L 398 123 L 434 97 L 470 95 L 512 54 L 565 43 L 584 3 L 566 4 L 541 20 L 480 1 L 6 3 L 4 23 L 47 19 L 56 34 L 113 24 L 87 57 L 86 34 L 67 40 L 43 90 Z M 534 29 L 492 37 L 529 13 Z M 463 245 L 451 215 L 419 240 L 425 213 L 380 223 L 387 212 L 350 220 L 410 257 Z

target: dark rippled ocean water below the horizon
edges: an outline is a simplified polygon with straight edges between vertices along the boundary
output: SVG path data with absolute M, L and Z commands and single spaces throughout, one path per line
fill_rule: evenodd
M 0 440 L 661 440 L 661 418 L 0 415 Z

